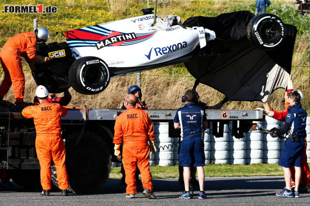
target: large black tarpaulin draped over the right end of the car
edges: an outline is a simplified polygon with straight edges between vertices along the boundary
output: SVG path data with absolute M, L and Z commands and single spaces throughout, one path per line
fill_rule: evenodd
M 251 45 L 247 26 L 254 15 L 240 11 L 217 17 L 188 18 L 183 26 L 214 30 L 216 40 L 197 49 L 185 63 L 190 74 L 234 101 L 266 102 L 277 88 L 287 87 L 296 27 L 285 24 L 285 38 L 277 49 L 264 51 Z

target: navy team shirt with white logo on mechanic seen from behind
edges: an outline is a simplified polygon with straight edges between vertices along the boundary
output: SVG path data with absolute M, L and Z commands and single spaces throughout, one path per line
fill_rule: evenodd
M 179 108 L 173 122 L 180 123 L 181 137 L 189 138 L 201 136 L 203 131 L 202 122 L 206 121 L 205 111 L 195 103 L 186 103 Z

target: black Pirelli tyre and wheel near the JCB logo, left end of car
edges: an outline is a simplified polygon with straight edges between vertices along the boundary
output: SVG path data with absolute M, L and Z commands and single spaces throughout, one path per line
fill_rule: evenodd
M 71 87 L 81 94 L 98 94 L 109 85 L 109 67 L 102 59 L 82 57 L 71 65 L 69 80 Z

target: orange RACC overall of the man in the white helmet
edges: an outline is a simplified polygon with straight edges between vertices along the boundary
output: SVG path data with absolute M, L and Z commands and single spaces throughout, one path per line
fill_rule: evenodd
M 61 136 L 61 117 L 68 110 L 59 103 L 44 101 L 41 104 L 27 106 L 22 115 L 25 118 L 33 118 L 37 133 L 35 148 L 41 166 L 41 185 L 43 190 L 49 190 L 50 185 L 50 162 L 56 167 L 58 185 L 61 190 L 69 187 L 68 175 L 65 165 L 65 147 Z

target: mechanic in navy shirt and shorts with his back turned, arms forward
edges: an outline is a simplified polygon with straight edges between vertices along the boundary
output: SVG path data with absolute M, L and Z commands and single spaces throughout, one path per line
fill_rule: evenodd
M 187 90 L 184 95 L 185 105 L 177 110 L 174 122 L 174 128 L 181 128 L 181 146 L 179 154 L 179 165 L 183 166 L 185 191 L 180 198 L 190 199 L 189 181 L 190 167 L 197 167 L 198 181 L 200 187 L 199 199 L 206 199 L 204 193 L 204 171 L 203 166 L 205 156 L 203 151 L 204 130 L 208 126 L 205 111 L 202 107 L 196 105 L 196 92 Z

